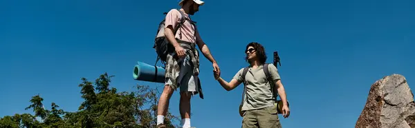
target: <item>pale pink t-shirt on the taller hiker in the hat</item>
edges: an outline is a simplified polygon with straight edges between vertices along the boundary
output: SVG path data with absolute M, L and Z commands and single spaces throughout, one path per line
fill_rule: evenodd
M 178 25 L 181 19 L 181 14 L 178 11 L 180 10 L 172 9 L 169 12 L 167 12 L 167 15 L 165 17 L 165 28 L 167 28 L 167 26 L 169 25 L 172 25 L 173 29 L 176 28 L 176 25 Z M 186 12 L 183 12 L 183 14 L 185 14 L 184 18 L 190 19 L 189 14 L 186 14 Z M 182 38 L 180 38 L 180 34 Z M 192 25 L 190 21 L 187 20 L 185 20 L 185 23 L 183 23 L 181 28 L 178 28 L 175 37 L 176 39 L 180 39 L 182 41 L 187 41 L 190 43 L 196 43 L 196 41 L 201 40 L 196 26 Z

